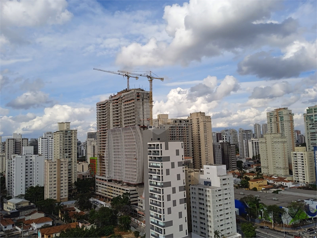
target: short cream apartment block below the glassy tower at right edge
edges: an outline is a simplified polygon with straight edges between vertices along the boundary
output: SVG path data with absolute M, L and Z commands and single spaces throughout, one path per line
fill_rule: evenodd
M 292 151 L 293 180 L 299 183 L 316 183 L 314 151 L 306 147 L 295 147 Z

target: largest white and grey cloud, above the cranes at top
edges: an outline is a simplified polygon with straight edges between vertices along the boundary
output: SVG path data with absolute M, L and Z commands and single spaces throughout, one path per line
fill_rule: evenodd
M 294 40 L 298 25 L 292 18 L 281 23 L 271 20 L 271 11 L 278 5 L 272 1 L 191 0 L 182 6 L 165 6 L 165 32 L 172 40 L 152 37 L 145 44 L 123 46 L 116 63 L 126 67 L 186 65 L 248 46 L 285 45 Z

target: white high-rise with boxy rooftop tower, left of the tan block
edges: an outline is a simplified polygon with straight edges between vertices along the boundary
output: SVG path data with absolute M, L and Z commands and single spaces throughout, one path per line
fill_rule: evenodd
M 7 195 L 25 194 L 31 186 L 44 186 L 44 158 L 33 154 L 33 146 L 23 146 L 21 155 L 11 155 L 6 166 Z

